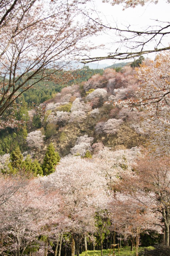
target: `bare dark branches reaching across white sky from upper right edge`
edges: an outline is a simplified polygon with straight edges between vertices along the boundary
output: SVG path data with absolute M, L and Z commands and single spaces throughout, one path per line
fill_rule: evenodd
M 158 1 L 152 0 L 109 0 L 103 1 L 109 2 L 112 5 L 125 4 L 125 8 L 135 7 L 136 5 L 144 5 L 146 2 L 157 3 Z M 167 1 L 169 3 L 169 1 Z M 150 25 L 147 28 L 141 30 L 134 30 L 131 25 L 124 26 L 124 28 L 118 26 L 116 23 L 111 26 L 109 23 L 104 22 L 97 16 L 94 18 L 88 12 L 83 12 L 89 19 L 93 20 L 96 25 L 101 26 L 106 32 L 113 32 L 115 40 L 114 45 L 117 47 L 115 52 L 109 53 L 107 56 L 97 56 L 82 59 L 82 63 L 90 63 L 103 59 L 115 59 L 115 60 L 127 60 L 138 57 L 143 54 L 161 52 L 169 50 L 170 46 L 164 42 L 164 39 L 170 34 L 170 22 L 163 22 L 155 20 L 156 25 Z M 126 50 L 127 49 L 127 50 Z

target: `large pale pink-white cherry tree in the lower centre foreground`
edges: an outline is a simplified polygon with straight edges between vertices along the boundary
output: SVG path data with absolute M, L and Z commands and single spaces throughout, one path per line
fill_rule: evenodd
M 95 163 L 73 156 L 61 159 L 56 172 L 42 178 L 46 188 L 58 188 L 63 196 L 69 216 L 67 227 L 74 238 L 77 255 L 80 235 L 95 230 L 95 205 L 105 203 L 103 182 L 105 179 L 96 172 Z

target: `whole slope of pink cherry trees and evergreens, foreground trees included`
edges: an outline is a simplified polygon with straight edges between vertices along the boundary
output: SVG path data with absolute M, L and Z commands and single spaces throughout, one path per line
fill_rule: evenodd
M 23 94 L 0 134 L 2 253 L 169 246 L 169 53 L 138 66 Z

